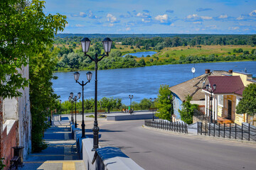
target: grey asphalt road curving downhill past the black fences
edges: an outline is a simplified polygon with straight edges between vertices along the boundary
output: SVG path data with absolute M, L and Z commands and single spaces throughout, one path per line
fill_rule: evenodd
M 100 145 L 119 147 L 149 170 L 256 169 L 256 143 L 178 135 L 142 128 L 143 124 L 144 120 L 101 120 Z

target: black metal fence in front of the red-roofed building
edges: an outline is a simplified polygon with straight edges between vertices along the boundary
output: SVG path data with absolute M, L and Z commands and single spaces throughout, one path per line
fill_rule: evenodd
M 200 123 L 198 122 L 198 135 L 213 137 L 228 137 L 235 140 L 256 141 L 256 128 L 253 125 L 242 123 Z

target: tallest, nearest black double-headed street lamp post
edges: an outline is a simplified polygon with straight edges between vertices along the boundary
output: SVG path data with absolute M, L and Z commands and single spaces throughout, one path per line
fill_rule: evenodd
M 82 38 L 82 40 L 81 40 L 82 52 L 85 52 L 85 56 L 89 57 L 90 60 L 95 62 L 95 121 L 94 121 L 94 126 L 92 128 L 92 132 L 93 132 L 92 151 L 95 151 L 99 147 L 99 130 L 100 130 L 100 128 L 98 127 L 98 124 L 97 124 L 97 63 L 100 62 L 103 59 L 103 57 L 109 55 L 109 52 L 110 52 L 111 46 L 112 46 L 112 40 L 110 40 L 110 38 L 105 38 L 104 40 L 102 40 L 102 44 L 103 44 L 104 50 L 106 52 L 106 55 L 102 55 L 102 57 L 100 57 L 100 59 L 98 59 L 97 54 L 95 54 L 95 58 L 92 58 L 92 57 L 90 57 L 90 55 L 86 54 L 89 51 L 89 47 L 90 47 L 89 38 Z

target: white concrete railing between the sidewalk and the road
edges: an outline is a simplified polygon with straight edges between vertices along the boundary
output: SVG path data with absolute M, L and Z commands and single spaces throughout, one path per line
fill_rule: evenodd
M 136 162 L 130 159 L 117 147 L 100 147 L 97 149 L 95 162 L 95 151 L 92 151 L 93 139 L 83 138 L 79 128 L 71 125 L 71 130 L 76 140 L 78 154 L 85 163 L 87 170 L 108 169 L 108 170 L 143 170 Z

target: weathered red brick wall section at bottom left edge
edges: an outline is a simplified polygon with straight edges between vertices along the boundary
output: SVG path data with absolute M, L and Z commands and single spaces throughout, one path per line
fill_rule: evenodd
M 9 169 L 11 157 L 14 157 L 14 149 L 11 147 L 18 146 L 18 123 L 14 123 L 9 134 L 6 134 L 6 128 L 1 134 L 1 154 L 4 157 L 4 170 Z

